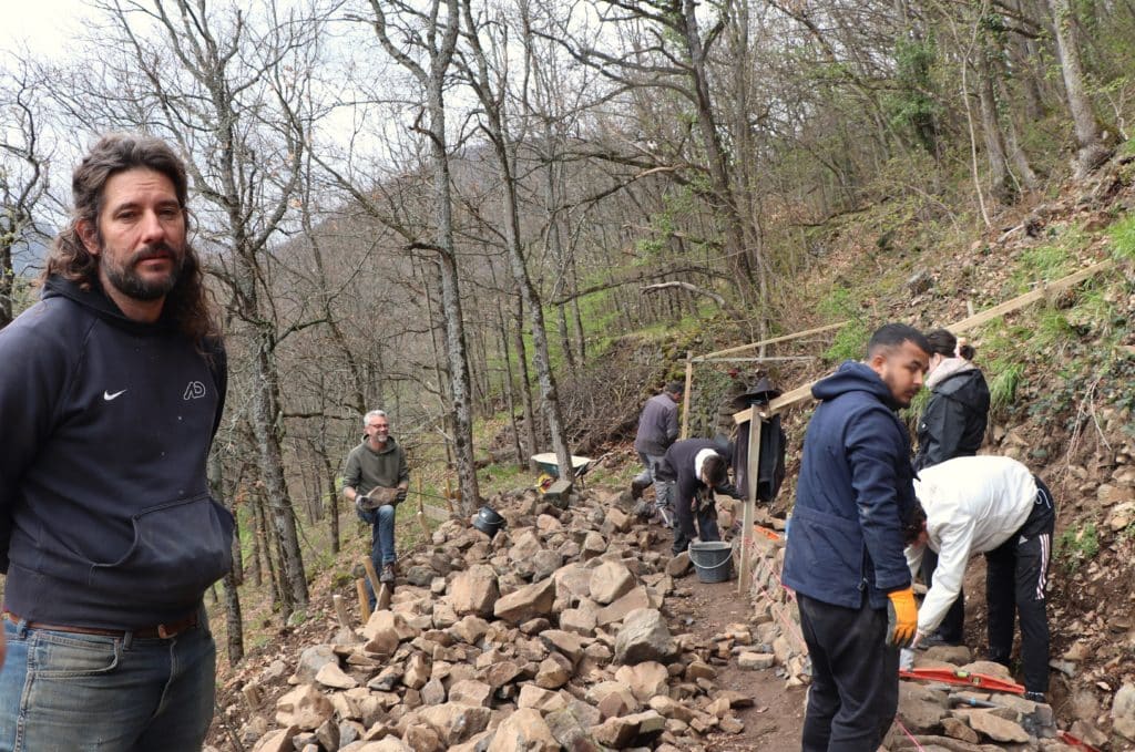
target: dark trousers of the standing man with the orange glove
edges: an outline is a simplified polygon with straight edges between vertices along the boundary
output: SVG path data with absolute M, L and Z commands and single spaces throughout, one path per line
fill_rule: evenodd
M 899 649 L 884 644 L 886 610 L 797 593 L 812 658 L 802 752 L 875 752 L 899 705 Z

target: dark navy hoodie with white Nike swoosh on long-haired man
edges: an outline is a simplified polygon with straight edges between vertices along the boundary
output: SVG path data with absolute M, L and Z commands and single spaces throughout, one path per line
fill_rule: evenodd
M 143 628 L 192 614 L 230 568 L 233 517 L 205 480 L 226 387 L 209 349 L 58 278 L 0 330 L 6 609 Z

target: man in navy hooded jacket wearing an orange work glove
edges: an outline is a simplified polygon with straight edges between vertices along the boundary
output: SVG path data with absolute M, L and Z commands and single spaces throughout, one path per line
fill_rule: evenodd
M 874 752 L 898 707 L 899 648 L 917 628 L 903 525 L 915 509 L 910 437 L 896 411 L 922 388 L 930 345 L 886 324 L 866 363 L 812 388 L 783 582 L 796 591 L 813 679 L 805 752 Z

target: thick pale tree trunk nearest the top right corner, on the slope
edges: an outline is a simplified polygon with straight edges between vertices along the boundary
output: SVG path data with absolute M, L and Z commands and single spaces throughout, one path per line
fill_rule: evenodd
M 1087 95 L 1079 57 L 1079 28 L 1071 3 L 1069 0 L 1048 2 L 1056 28 L 1068 112 L 1071 113 L 1073 132 L 1076 134 L 1075 174 L 1077 178 L 1083 178 L 1102 164 L 1111 155 L 1111 151 L 1103 143 L 1103 133 Z

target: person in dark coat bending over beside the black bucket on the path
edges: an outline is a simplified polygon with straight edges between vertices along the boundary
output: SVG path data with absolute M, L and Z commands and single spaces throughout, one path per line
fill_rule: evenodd
M 721 446 L 709 439 L 683 439 L 666 449 L 655 478 L 672 485 L 674 501 L 674 556 L 700 541 L 720 541 L 714 490 L 735 496 L 729 485 L 729 466 Z M 697 530 L 693 529 L 697 515 Z

